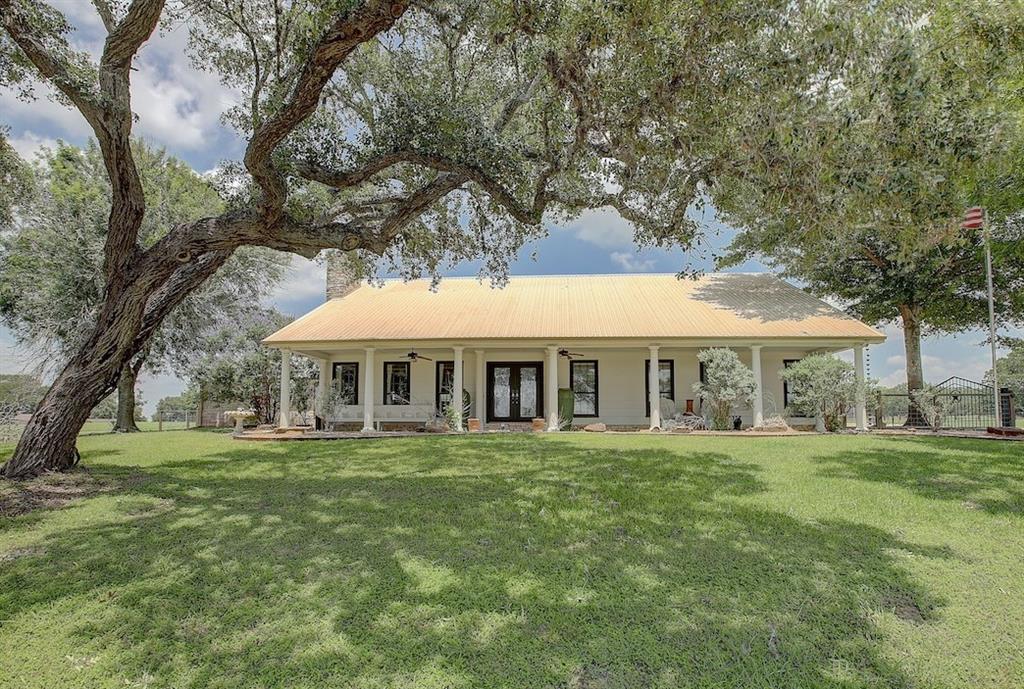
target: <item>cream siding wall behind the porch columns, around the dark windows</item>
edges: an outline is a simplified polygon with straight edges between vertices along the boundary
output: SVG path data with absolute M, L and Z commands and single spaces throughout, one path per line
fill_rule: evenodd
M 473 402 L 473 416 L 480 416 L 483 406 L 476 399 L 476 347 L 468 345 L 463 352 L 463 385 L 469 391 Z M 373 399 L 375 404 L 381 404 L 384 398 L 384 363 L 388 361 L 404 361 L 409 349 L 377 349 L 374 356 Z M 429 356 L 433 361 L 420 359 L 410 364 L 412 376 L 412 396 L 415 403 L 433 404 L 437 361 L 450 361 L 455 357 L 451 349 L 417 348 L 418 353 Z M 588 349 L 573 347 L 578 358 L 596 359 L 598 362 L 598 408 L 600 416 L 596 419 L 581 419 L 580 423 L 602 422 L 612 426 L 644 426 L 648 423 L 645 416 L 646 386 L 644 379 L 644 361 L 649 356 L 646 347 L 631 349 Z M 663 347 L 659 352 L 662 360 L 672 360 L 675 368 L 675 401 L 679 411 L 686 408 L 686 400 L 694 400 L 694 408 L 699 408 L 699 401 L 693 392 L 693 385 L 699 379 L 697 349 L 677 349 Z M 773 349 L 765 347 L 761 351 L 761 365 L 765 393 L 765 416 L 782 413 L 782 381 L 779 371 L 784 359 L 799 359 L 810 353 L 811 349 Z M 751 351 L 746 347 L 737 347 L 736 352 L 746 365 L 751 364 Z M 364 389 L 365 352 L 359 350 L 336 352 L 332 362 L 355 361 L 359 364 L 359 405 L 366 399 Z M 537 349 L 493 349 L 484 348 L 486 361 L 539 361 L 545 365 L 547 353 L 543 348 Z M 486 367 L 484 367 L 486 371 Z M 545 380 L 549 375 L 544 372 Z M 558 387 L 569 386 L 568 359 L 559 357 Z M 545 406 L 552 400 L 545 398 Z M 736 410 L 744 425 L 752 421 L 751 410 Z M 361 419 L 361 417 L 360 417 Z

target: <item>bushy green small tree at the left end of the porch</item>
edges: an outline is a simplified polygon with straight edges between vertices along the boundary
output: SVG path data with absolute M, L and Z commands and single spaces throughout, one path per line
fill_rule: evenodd
M 275 423 L 280 411 L 281 350 L 265 347 L 262 342 L 291 320 L 283 313 L 263 309 L 204 337 L 201 348 L 204 354 L 193 362 L 189 372 L 191 386 L 202 389 L 207 399 L 248 404 L 261 424 Z M 292 357 L 294 410 L 312 408 L 317 375 L 310 359 Z

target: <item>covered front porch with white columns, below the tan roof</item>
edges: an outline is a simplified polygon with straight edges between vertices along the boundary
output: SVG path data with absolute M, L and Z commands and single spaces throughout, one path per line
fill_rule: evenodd
M 390 341 L 303 343 L 282 346 L 281 419 L 292 426 L 291 357 L 318 362 L 316 416 L 325 430 L 411 431 L 445 415 L 455 430 L 473 419 L 480 430 L 515 429 L 543 419 L 557 431 L 558 390 L 572 391 L 573 426 L 602 423 L 609 429 L 659 429 L 664 415 L 702 416 L 693 385 L 700 380 L 697 353 L 728 347 L 751 368 L 760 388 L 752 408 L 736 408 L 741 427 L 766 416 L 785 416 L 786 390 L 779 372 L 816 351 L 853 350 L 864 377 L 862 342 L 693 341 Z M 655 363 L 651 365 L 651 361 Z M 463 403 L 454 391 L 462 390 Z M 787 417 L 791 425 L 813 419 Z M 477 426 L 478 424 L 478 426 Z M 867 428 L 863 404 L 855 426 Z

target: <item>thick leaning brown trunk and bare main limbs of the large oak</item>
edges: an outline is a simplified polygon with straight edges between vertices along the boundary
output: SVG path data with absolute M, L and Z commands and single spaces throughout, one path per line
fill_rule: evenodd
M 309 256 L 326 248 L 365 247 L 369 233 L 348 223 L 297 223 L 285 210 L 286 176 L 271 156 L 321 102 L 335 71 L 362 43 L 387 31 L 409 8 L 395 2 L 358 3 L 350 11 L 332 12 L 333 20 L 309 51 L 290 87 L 290 95 L 255 129 L 244 163 L 260 187 L 257 203 L 175 228 L 146 250 L 138 244 L 145 213 L 141 179 L 131 152 L 132 58 L 155 31 L 163 0 L 132 2 L 116 26 L 106 27 L 102 55 L 96 66 L 98 93 L 86 87 L 77 67 L 51 54 L 51 41 L 39 36 L 31 3 L 0 0 L 3 31 L 37 71 L 78 109 L 92 128 L 111 181 L 111 212 L 103 246 L 105 296 L 93 332 L 68 362 L 25 427 L 10 460 L 0 469 L 8 478 L 62 471 L 78 463 L 78 433 L 95 404 L 118 386 L 122 369 L 140 352 L 154 331 L 181 300 L 223 265 L 241 246 L 260 245 Z M 105 6 L 105 3 L 103 3 Z M 34 7 L 34 5 L 32 5 Z M 104 18 L 104 25 L 113 24 Z M 372 174 L 372 173 L 370 173 Z M 425 186 L 412 204 L 393 213 L 375 246 L 385 246 L 398 229 L 466 177 L 450 175 L 443 184 Z M 383 232 L 383 234 L 378 234 Z M 383 251 L 383 250 L 382 250 Z

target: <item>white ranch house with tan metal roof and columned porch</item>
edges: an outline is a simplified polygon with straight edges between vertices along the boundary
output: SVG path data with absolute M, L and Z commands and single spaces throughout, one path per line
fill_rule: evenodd
M 885 340 L 767 274 L 528 276 L 503 289 L 445 278 L 431 291 L 427 281 L 346 284 L 329 268 L 328 285 L 325 304 L 264 342 L 284 354 L 282 419 L 292 418 L 290 357 L 302 354 L 319 361 L 321 394 L 335 381 L 350 402 L 327 415 L 333 430 L 421 425 L 453 389 L 468 392 L 469 416 L 484 428 L 543 418 L 557 430 L 559 388 L 572 389 L 578 425 L 656 429 L 663 414 L 700 414 L 693 384 L 709 347 L 735 350 L 753 370 L 753 408 L 734 412 L 758 425 L 783 413 L 783 367 L 852 349 L 862 378 L 864 347 Z M 866 429 L 863 406 L 855 416 Z

